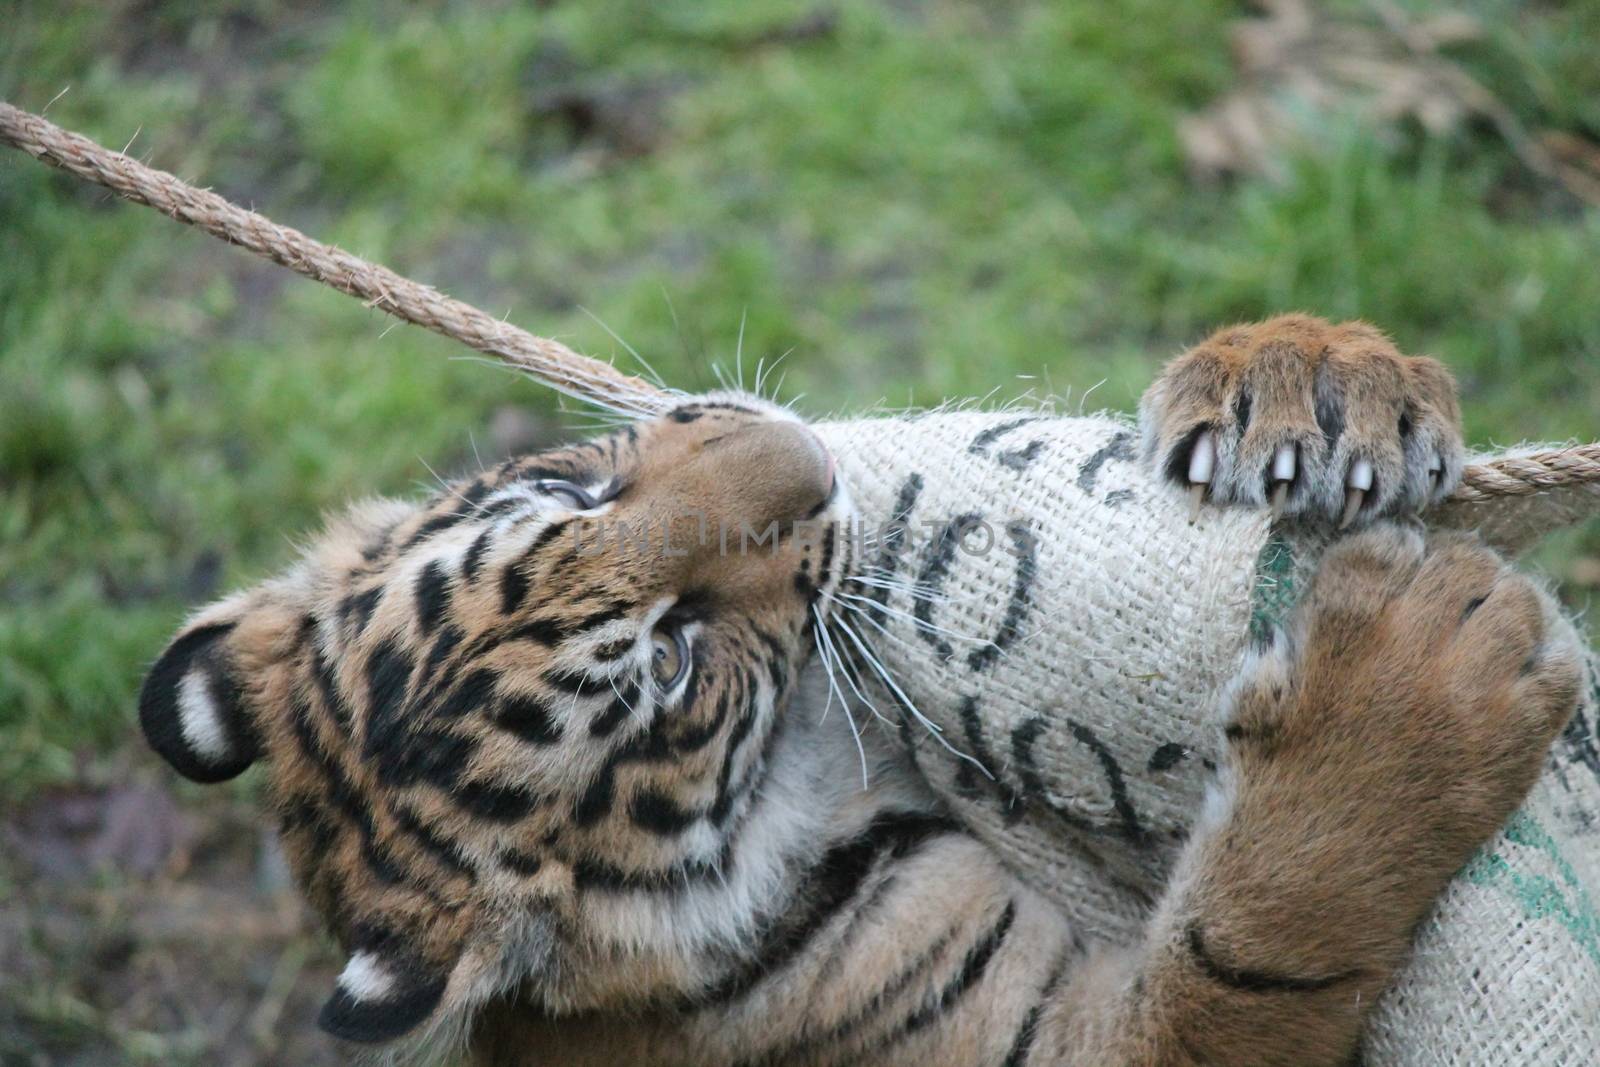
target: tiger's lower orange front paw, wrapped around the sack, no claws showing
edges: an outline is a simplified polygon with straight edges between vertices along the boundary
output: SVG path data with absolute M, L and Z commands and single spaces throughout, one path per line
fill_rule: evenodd
M 1304 872 L 1411 920 L 1522 803 L 1579 702 L 1581 641 L 1477 537 L 1333 545 L 1227 728 L 1242 797 Z M 1389 904 L 1370 894 L 1386 896 Z

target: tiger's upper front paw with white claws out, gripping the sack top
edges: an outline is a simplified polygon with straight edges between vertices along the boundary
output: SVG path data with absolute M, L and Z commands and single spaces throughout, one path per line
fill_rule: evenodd
M 1280 315 L 1221 330 L 1139 402 L 1144 454 L 1198 509 L 1368 523 L 1446 498 L 1466 451 L 1456 384 L 1365 323 Z

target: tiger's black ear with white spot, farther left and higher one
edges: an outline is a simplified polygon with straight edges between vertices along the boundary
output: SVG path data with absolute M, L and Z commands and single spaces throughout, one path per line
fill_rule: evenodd
M 234 622 L 210 622 L 181 633 L 139 693 L 146 741 L 197 782 L 227 781 L 259 752 L 227 646 L 232 632 Z

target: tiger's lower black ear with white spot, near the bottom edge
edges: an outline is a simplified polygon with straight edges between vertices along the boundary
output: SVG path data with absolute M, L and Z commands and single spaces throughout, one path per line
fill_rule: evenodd
M 360 949 L 339 973 L 317 1024 L 346 1041 L 373 1045 L 422 1025 L 445 998 L 450 973 L 395 949 Z

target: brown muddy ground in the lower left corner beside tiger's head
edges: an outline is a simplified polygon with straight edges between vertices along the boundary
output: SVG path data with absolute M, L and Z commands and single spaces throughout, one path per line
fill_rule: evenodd
M 254 805 L 126 771 L 0 817 L 0 1064 L 344 1062 L 315 1027 L 334 957 Z

